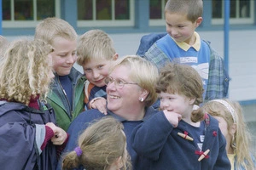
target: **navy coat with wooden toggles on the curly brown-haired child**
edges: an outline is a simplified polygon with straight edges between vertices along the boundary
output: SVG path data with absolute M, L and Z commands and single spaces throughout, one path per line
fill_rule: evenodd
M 210 150 L 201 161 L 200 149 L 195 141 L 189 141 L 177 133 L 194 130 L 188 123 L 180 121 L 177 127 L 172 127 L 163 111 L 154 114 L 147 121 L 137 126 L 131 136 L 131 143 L 139 156 L 150 160 L 143 169 L 147 170 L 229 170 L 225 145 L 226 141 L 218 128 L 218 121 L 209 116 L 206 121 L 205 139 L 202 151 Z

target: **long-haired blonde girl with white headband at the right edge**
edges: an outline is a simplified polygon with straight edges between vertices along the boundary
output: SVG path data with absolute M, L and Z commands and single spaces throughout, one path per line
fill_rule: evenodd
M 232 170 L 256 169 L 256 161 L 250 152 L 251 134 L 238 102 L 229 99 L 214 99 L 204 104 L 195 120 L 201 119 L 204 113 L 212 115 L 218 120 L 219 128 L 227 141 L 226 150 L 231 162 Z

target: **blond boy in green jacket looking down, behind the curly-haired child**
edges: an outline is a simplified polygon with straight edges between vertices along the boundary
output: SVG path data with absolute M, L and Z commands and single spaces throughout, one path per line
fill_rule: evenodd
M 53 47 L 55 79 L 47 97 L 56 114 L 57 125 L 67 130 L 73 119 L 84 111 L 85 77 L 75 68 L 77 33 L 67 21 L 46 18 L 36 27 L 35 39 L 43 39 Z

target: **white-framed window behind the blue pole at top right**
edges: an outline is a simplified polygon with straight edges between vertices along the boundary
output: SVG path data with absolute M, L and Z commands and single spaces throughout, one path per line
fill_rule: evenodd
M 254 0 L 230 0 L 230 24 L 253 24 Z M 212 24 L 224 24 L 224 0 L 212 0 Z

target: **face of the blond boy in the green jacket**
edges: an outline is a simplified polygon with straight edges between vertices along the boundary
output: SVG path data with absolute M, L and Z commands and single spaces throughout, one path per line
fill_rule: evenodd
M 59 76 L 68 75 L 73 64 L 77 60 L 76 40 L 67 40 L 63 37 L 55 37 L 52 46 L 54 48 L 54 51 L 51 53 L 54 71 Z

